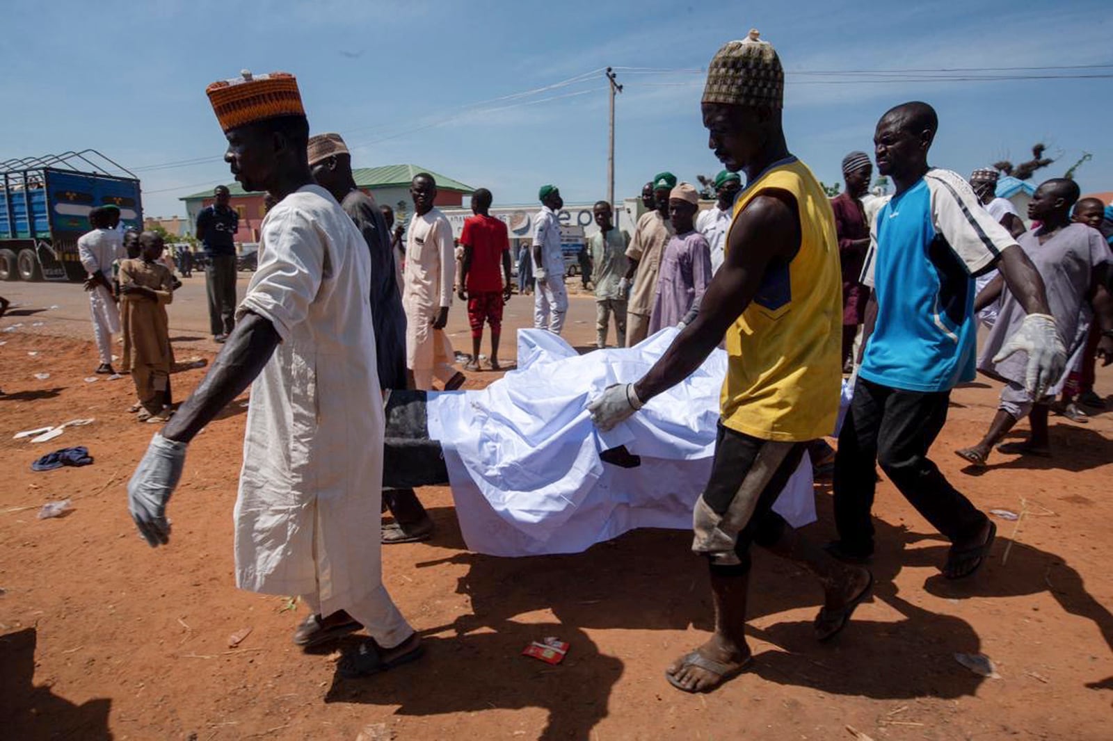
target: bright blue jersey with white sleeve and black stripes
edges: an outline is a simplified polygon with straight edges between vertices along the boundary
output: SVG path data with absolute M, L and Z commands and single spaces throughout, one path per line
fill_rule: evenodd
M 944 392 L 974 379 L 975 275 L 1016 240 L 949 170 L 894 196 L 870 228 L 863 283 L 877 322 L 858 375 L 890 388 Z

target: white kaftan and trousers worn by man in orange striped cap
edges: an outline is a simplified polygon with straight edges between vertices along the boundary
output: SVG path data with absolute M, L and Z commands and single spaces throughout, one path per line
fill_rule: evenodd
M 383 407 L 363 237 L 319 186 L 263 220 L 258 268 L 236 312 L 282 344 L 252 388 L 236 502 L 236 584 L 346 611 L 382 645 L 413 633 L 383 586 Z

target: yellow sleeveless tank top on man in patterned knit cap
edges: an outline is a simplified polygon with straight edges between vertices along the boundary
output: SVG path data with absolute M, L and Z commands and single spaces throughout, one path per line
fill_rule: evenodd
M 804 442 L 830 435 L 843 377 L 843 278 L 835 216 L 811 170 L 792 158 L 764 172 L 735 202 L 738 215 L 761 191 L 796 197 L 800 249 L 771 265 L 742 315 L 727 329 L 722 424 L 759 437 Z M 730 251 L 730 231 L 726 249 Z

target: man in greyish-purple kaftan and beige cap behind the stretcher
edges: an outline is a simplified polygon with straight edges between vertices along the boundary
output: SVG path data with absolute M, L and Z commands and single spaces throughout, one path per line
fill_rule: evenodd
M 711 250 L 692 224 L 697 208 L 699 192 L 688 182 L 669 194 L 669 223 L 676 234 L 661 254 L 649 334 L 689 318 L 688 313 L 699 306 L 711 283 Z

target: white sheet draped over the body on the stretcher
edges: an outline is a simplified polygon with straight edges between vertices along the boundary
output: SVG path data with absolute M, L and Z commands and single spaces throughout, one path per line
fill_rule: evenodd
M 636 527 L 691 530 L 711 471 L 727 354 L 716 349 L 608 433 L 587 411 L 604 387 L 639 379 L 677 334 L 668 327 L 631 348 L 579 355 L 549 332 L 519 329 L 518 369 L 483 391 L 429 395 L 430 437 L 444 448 L 470 550 L 578 553 Z M 641 465 L 600 460 L 620 445 Z M 774 508 L 797 527 L 816 520 L 807 455 Z

